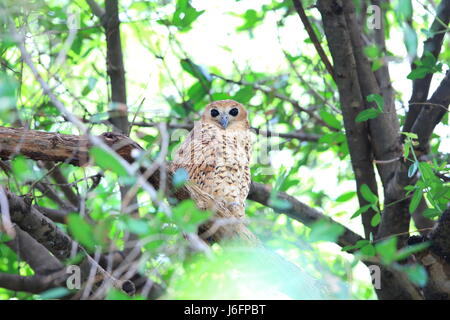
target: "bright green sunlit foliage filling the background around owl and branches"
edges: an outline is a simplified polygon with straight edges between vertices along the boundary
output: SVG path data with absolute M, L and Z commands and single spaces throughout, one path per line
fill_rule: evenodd
M 302 2 L 305 7 L 314 3 Z M 105 63 L 104 30 L 88 4 L 81 0 L 8 0 L 5 5 L 14 24 L 29 37 L 26 48 L 58 99 L 83 120 L 91 133 L 110 131 L 106 120 L 112 107 L 111 83 Z M 370 44 L 364 53 L 373 70 L 379 70 L 385 60 L 400 62 L 397 70 L 404 79 L 394 82 L 400 107 L 409 99 L 404 90 L 410 85 L 407 79 L 442 76 L 450 46 L 447 39 L 438 59 L 429 53 L 419 58 L 418 43 L 426 39 L 427 34 L 422 31 L 429 29 L 433 13 L 421 9 L 420 1 L 414 0 L 392 1 L 383 9 L 388 51 Z M 363 234 L 361 215 L 369 209 L 376 212 L 371 225 L 379 225 L 385 209 L 383 201 L 367 185 L 356 190 L 336 84 L 323 68 L 291 1 L 121 1 L 120 12 L 129 120 L 135 124 L 131 138 L 146 150 L 137 156 L 139 161 L 150 167 L 163 152 L 162 135 L 148 124 L 169 123 L 170 160 L 187 133 L 177 125 L 192 125 L 210 101 L 235 99 L 248 107 L 253 128 L 274 133 L 268 138 L 254 135 L 251 166 L 252 181 L 272 187 L 272 208 L 291 209 L 289 202 L 277 197 L 277 192 L 286 192 L 359 234 Z M 75 33 L 67 24 L 71 13 L 75 13 L 78 24 Z M 325 47 L 318 11 L 311 8 L 307 14 Z M 412 16 L 414 23 L 407 23 Z M 79 134 L 24 66 L 6 23 L 0 24 L 0 32 L 0 126 Z M 404 45 L 398 44 L 399 35 Z M 414 63 L 412 70 L 408 59 Z M 370 123 L 385 113 L 381 95 L 372 94 L 365 99 L 372 107 L 356 116 L 359 124 Z M 446 117 L 444 124 L 448 124 Z M 414 213 L 425 199 L 427 209 L 423 215 L 434 220 L 442 215 L 450 199 L 448 182 L 436 176 L 449 172 L 448 137 L 442 132 L 436 132 L 431 140 L 429 161 L 418 158 L 414 152 L 417 136 L 404 133 L 403 157 L 410 165 L 408 175 L 417 177 L 413 185 L 405 188 L 405 197 L 410 198 L 409 211 Z M 310 139 L 288 136 L 294 133 Z M 255 298 L 254 292 L 265 292 L 264 298 L 373 299 L 371 279 L 367 270 L 361 271 L 362 263 L 357 260 L 364 257 L 377 257 L 383 264 L 405 271 L 414 283 L 426 283 L 422 266 L 404 266 L 399 261 L 424 250 L 428 244 L 398 249 L 396 237 L 384 241 L 364 239 L 341 251 L 331 244 L 344 232 L 340 225 L 320 220 L 307 228 L 252 201 L 247 202 L 246 209 L 252 231 L 268 248 L 308 269 L 304 278 L 295 275 L 296 280 L 290 283 L 283 274 L 286 266 L 281 266 L 277 274 L 270 273 L 267 266 L 260 269 L 261 259 L 267 253 L 258 251 L 242 253 L 216 246 L 212 256 L 192 255 L 185 235 L 195 234 L 197 227 L 211 216 L 210 212 L 199 210 L 191 200 L 175 203 L 158 193 L 158 201 L 171 205 L 171 214 L 167 214 L 143 188 L 137 188 L 139 208 L 126 214 L 118 185 L 132 187 L 136 177 L 108 152 L 93 148 L 90 154 L 92 166 L 63 163 L 59 167 L 67 183 L 84 199 L 86 208 L 86 216 L 69 210 L 67 223 L 58 224 L 59 227 L 91 253 L 110 245 L 118 250 L 129 249 L 130 235 L 141 240 L 147 260 L 138 269 L 168 286 L 167 298 Z M 45 169 L 21 156 L 11 160 L 10 166 L 11 175 L 0 170 L 1 185 L 16 194 L 32 195 L 34 204 L 39 206 L 61 207 L 35 183 L 51 186 L 58 197 L 65 199 Z M 88 177 L 99 172 L 104 176 L 95 184 Z M 186 181 L 185 171 L 175 173 L 176 188 Z M 357 192 L 366 205 L 359 206 Z M 32 275 L 33 270 L 5 244 L 7 240 L 0 232 L 0 272 Z M 240 273 L 234 274 L 236 270 Z M 247 282 L 252 277 L 256 280 Z M 330 277 L 338 279 L 339 290 L 324 294 L 321 289 L 327 287 Z M 265 280 L 260 281 L 262 278 Z M 344 285 L 350 279 L 355 280 Z M 242 287 L 244 282 L 247 285 Z M 296 286 L 310 288 L 310 295 L 298 294 Z M 64 290 L 56 288 L 34 295 L 0 288 L 0 299 L 53 299 L 64 296 Z M 350 295 L 344 294 L 345 290 Z M 128 297 L 111 290 L 107 299 Z

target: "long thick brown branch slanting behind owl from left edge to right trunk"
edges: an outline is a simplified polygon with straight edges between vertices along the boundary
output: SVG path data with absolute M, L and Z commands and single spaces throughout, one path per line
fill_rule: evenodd
M 131 156 L 133 149 L 142 149 L 131 139 L 120 134 L 105 133 L 99 136 L 99 138 L 108 146 L 116 149 L 116 152 L 128 162 L 133 162 L 134 160 Z M 31 141 L 34 141 L 34 144 Z M 23 148 L 21 143 L 23 144 Z M 64 161 L 73 165 L 85 165 L 89 163 L 89 147 L 88 140 L 83 136 L 0 127 L 0 158 L 4 159 L 22 154 L 34 160 Z M 159 179 L 159 170 L 155 170 L 149 177 L 149 182 L 155 188 L 159 188 Z M 168 183 L 171 185 L 170 175 L 168 176 Z M 173 195 L 179 200 L 190 197 L 189 192 L 184 187 L 174 191 Z M 291 208 L 280 210 L 270 204 L 270 195 L 269 187 L 255 182 L 251 184 L 249 199 L 272 207 L 278 213 L 285 213 L 307 225 L 319 219 L 327 219 L 332 223 L 336 223 L 317 210 L 306 206 L 294 197 L 283 192 L 279 192 L 277 197 L 289 202 Z M 352 245 L 360 239 L 361 237 L 359 235 L 346 229 L 345 233 L 339 239 L 339 244 L 342 246 Z

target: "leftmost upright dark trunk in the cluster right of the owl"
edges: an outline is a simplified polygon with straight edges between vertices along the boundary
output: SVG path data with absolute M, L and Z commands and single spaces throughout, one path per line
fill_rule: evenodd
M 356 122 L 356 116 L 364 110 L 364 98 L 359 84 L 357 62 L 355 61 L 351 37 L 340 1 L 319 1 L 318 8 L 322 15 L 325 35 L 328 40 L 334 62 L 336 84 L 342 105 L 344 127 L 347 136 L 350 157 L 355 173 L 360 206 L 367 205 L 360 190 L 366 184 L 374 194 L 378 194 L 375 171 L 372 164 L 369 130 L 365 122 Z M 371 220 L 376 212 L 369 209 L 362 215 L 366 237 L 376 234 Z

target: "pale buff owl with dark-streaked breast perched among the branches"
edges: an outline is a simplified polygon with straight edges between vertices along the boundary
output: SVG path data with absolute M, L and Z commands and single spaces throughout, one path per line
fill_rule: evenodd
M 250 159 L 250 125 L 244 106 L 233 100 L 207 105 L 201 120 L 176 151 L 171 171 L 185 169 L 187 188 L 197 206 L 215 212 L 216 220 L 222 218 L 215 225 L 209 222 L 201 227 L 208 236 L 232 237 L 242 228 L 250 189 Z

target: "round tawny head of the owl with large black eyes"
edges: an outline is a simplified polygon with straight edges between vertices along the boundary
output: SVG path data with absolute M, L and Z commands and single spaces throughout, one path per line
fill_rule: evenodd
M 212 123 L 222 129 L 248 129 L 247 110 L 234 100 L 211 102 L 203 112 L 202 121 Z

